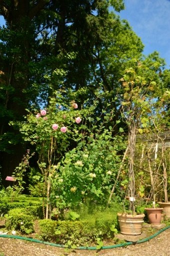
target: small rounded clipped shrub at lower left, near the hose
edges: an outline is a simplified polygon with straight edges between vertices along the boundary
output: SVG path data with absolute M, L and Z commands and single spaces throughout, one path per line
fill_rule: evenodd
M 5 227 L 8 230 L 20 231 L 21 233 L 31 233 L 33 231 L 33 215 L 26 212 L 25 208 L 15 208 L 9 210 L 5 215 Z

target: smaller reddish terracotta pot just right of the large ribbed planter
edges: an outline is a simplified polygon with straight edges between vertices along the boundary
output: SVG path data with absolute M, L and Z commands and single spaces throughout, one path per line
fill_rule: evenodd
M 145 208 L 150 224 L 160 224 L 163 208 Z

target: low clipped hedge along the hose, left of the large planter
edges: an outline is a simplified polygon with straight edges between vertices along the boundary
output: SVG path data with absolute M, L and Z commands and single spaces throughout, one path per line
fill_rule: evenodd
M 39 220 L 40 238 L 71 246 L 87 245 L 88 243 L 94 243 L 99 237 L 111 236 L 111 220 L 109 223 L 103 221 L 101 220 L 104 229 L 101 231 L 101 224 L 95 223 L 93 219 L 81 221 Z M 100 227 L 100 230 L 98 230 L 98 227 Z

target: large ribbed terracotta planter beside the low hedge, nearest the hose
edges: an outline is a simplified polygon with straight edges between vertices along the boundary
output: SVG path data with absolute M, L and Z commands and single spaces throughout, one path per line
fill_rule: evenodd
M 120 232 L 127 235 L 141 234 L 144 214 L 117 213 Z

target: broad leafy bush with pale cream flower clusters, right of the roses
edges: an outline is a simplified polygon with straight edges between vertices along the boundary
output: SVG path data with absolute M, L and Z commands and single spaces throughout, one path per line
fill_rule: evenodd
M 88 200 L 105 204 L 109 197 L 121 161 L 117 153 L 124 144 L 107 130 L 87 140 L 89 143 L 79 143 L 67 152 L 56 168 L 51 200 L 57 207 L 76 206 Z

